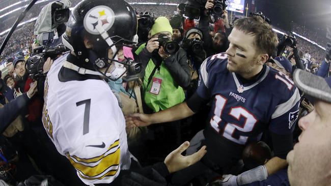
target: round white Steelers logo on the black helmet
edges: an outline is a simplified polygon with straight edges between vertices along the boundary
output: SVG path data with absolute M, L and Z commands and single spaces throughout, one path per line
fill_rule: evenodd
M 84 17 L 84 27 L 90 34 L 99 35 L 99 28 L 111 29 L 115 21 L 114 11 L 107 6 L 96 6 Z

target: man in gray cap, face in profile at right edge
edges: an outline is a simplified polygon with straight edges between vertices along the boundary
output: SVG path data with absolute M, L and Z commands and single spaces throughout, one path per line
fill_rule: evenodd
M 325 60 L 329 62 L 330 57 Z M 299 142 L 287 155 L 290 184 L 330 185 L 331 77 L 323 79 L 302 70 L 295 70 L 293 77 L 297 87 L 314 101 L 315 109 L 299 120 Z

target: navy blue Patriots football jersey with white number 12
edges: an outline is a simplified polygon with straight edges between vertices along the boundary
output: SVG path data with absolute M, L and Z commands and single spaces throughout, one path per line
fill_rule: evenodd
M 292 80 L 266 66 L 255 82 L 244 84 L 229 72 L 227 64 L 227 54 L 219 53 L 207 58 L 200 68 L 197 93 L 212 100 L 206 130 L 240 145 L 259 141 L 266 129 L 291 134 L 300 100 Z

